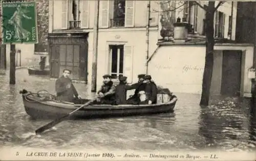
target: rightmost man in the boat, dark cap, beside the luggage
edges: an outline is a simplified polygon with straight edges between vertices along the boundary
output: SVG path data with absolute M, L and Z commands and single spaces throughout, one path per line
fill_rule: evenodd
M 152 81 L 151 76 L 147 75 L 145 79 L 145 101 L 141 101 L 140 104 L 156 104 L 157 102 L 157 85 Z

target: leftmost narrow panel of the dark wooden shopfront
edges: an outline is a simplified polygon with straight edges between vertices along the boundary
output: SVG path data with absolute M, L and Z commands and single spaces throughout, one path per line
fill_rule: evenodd
M 50 76 L 52 78 L 59 77 L 59 45 L 50 45 Z

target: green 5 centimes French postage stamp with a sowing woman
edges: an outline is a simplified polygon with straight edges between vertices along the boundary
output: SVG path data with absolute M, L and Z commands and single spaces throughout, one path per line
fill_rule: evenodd
M 2 1 L 2 43 L 37 43 L 35 2 Z

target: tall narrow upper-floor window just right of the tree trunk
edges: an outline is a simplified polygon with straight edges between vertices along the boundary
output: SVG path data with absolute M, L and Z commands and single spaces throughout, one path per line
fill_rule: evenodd
M 215 12 L 215 37 L 224 38 L 225 14 L 223 12 Z

